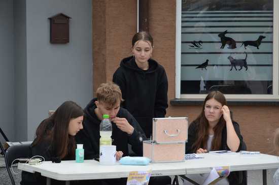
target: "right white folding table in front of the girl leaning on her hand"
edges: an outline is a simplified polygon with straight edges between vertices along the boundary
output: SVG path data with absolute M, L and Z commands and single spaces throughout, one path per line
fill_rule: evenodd
M 187 160 L 185 163 L 186 174 L 210 173 L 213 167 L 230 166 L 230 171 L 246 171 L 248 174 L 248 184 L 262 185 L 272 184 L 272 173 L 279 168 L 279 158 L 277 156 L 259 155 L 240 155 L 232 154 L 199 154 L 203 159 Z

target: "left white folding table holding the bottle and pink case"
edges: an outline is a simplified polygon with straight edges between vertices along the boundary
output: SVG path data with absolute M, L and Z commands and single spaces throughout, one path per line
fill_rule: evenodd
M 185 163 L 151 163 L 147 166 L 140 165 L 120 165 L 117 163 L 112 166 L 100 165 L 95 160 L 84 160 L 84 163 L 75 161 L 61 161 L 61 163 L 43 162 L 40 165 L 28 165 L 19 163 L 18 169 L 27 172 L 39 172 L 47 177 L 47 184 L 50 184 L 50 178 L 56 180 L 88 180 L 88 179 L 107 179 L 128 177 L 130 171 L 152 170 L 152 176 L 165 175 L 185 175 Z

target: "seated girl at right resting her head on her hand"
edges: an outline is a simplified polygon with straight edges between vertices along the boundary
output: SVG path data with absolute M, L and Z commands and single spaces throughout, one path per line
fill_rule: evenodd
M 239 125 L 231 119 L 225 96 L 220 91 L 212 91 L 206 96 L 201 113 L 189 126 L 186 153 L 246 149 L 243 147 L 246 146 Z M 232 172 L 222 184 L 239 184 L 236 173 Z

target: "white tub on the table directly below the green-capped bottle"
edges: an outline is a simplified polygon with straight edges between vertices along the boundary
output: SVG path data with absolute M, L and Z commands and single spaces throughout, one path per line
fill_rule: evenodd
M 116 163 L 116 146 L 100 145 L 100 165 L 115 165 Z

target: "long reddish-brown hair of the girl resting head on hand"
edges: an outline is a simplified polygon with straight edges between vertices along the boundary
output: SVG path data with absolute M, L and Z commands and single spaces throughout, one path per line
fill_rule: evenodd
M 192 146 L 192 150 L 194 152 L 196 152 L 197 149 L 199 149 L 199 148 L 207 148 L 209 125 L 208 125 L 208 120 L 206 119 L 205 114 L 204 114 L 204 107 L 205 107 L 205 103 L 210 99 L 215 99 L 217 102 L 221 103 L 222 106 L 227 105 L 226 98 L 220 91 L 211 91 L 211 93 L 209 93 L 206 96 L 206 98 L 203 102 L 201 113 L 193 121 L 193 123 L 198 125 L 197 138 L 196 138 L 196 141 L 194 142 L 194 144 Z M 226 121 L 225 121 L 225 119 L 223 118 L 223 115 L 222 115 L 221 118 L 219 119 L 218 124 L 213 128 L 214 138 L 213 138 L 213 141 L 212 141 L 211 150 L 219 150 L 220 149 L 221 139 L 222 139 L 222 131 L 223 131 L 223 128 L 224 128 L 225 125 L 226 125 Z

